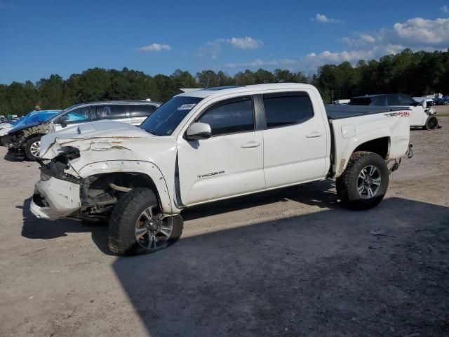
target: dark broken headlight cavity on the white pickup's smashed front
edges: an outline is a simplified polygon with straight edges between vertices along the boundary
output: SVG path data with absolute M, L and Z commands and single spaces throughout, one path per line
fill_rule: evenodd
M 69 162 L 73 159 L 79 158 L 79 150 L 75 147 L 69 147 L 67 152 L 60 154 L 51 160 L 40 159 L 39 164 L 41 164 L 41 179 L 48 180 L 51 177 L 68 180 L 72 183 L 78 183 L 79 179 L 65 173 L 66 170 L 70 169 Z

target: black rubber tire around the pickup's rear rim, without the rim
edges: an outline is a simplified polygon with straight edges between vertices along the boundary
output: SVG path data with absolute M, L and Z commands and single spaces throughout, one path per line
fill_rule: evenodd
M 363 182 L 359 175 L 367 167 L 374 166 L 378 170 L 380 186 L 372 197 L 364 197 L 358 192 L 358 183 Z M 350 209 L 372 209 L 384 199 L 389 183 L 387 163 L 379 154 L 373 152 L 354 152 L 349 158 L 346 169 L 337 178 L 337 197 Z M 363 185 L 363 183 L 361 184 Z

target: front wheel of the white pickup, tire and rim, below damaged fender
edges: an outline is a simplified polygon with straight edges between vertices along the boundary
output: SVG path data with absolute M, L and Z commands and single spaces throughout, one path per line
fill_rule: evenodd
M 127 192 L 117 201 L 109 220 L 109 250 L 113 253 L 152 253 L 180 238 L 181 216 L 163 217 L 156 195 L 145 187 Z

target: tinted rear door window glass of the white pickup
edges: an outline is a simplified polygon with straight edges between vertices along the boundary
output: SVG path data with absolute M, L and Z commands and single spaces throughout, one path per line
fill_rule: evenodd
M 314 117 L 307 93 L 274 93 L 263 98 L 268 128 L 300 124 Z

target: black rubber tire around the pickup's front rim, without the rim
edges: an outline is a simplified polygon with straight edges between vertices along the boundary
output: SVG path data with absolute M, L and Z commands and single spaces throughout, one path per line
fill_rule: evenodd
M 170 237 L 155 249 L 143 247 L 136 238 L 136 226 L 142 218 L 142 212 L 150 206 L 159 206 L 156 195 L 145 187 L 136 187 L 127 192 L 117 201 L 109 220 L 109 250 L 119 255 L 135 255 L 151 253 L 176 242 L 182 234 L 184 222 L 180 215 L 165 218 L 163 221 L 173 221 Z

